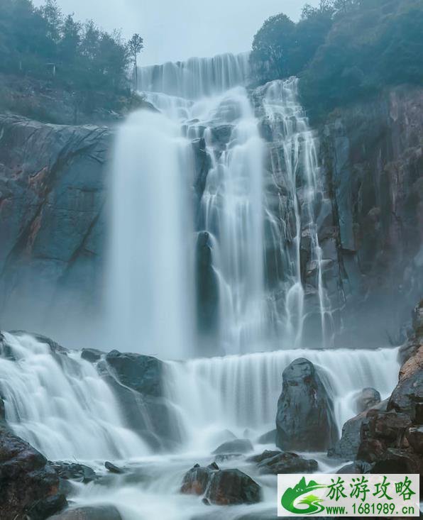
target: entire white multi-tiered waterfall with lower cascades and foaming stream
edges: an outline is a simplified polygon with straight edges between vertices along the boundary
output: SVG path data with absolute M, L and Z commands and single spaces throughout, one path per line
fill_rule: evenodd
M 256 94 L 247 82 L 248 55 L 144 67 L 139 87 L 159 111 L 132 114 L 116 138 L 106 329 L 119 350 L 172 360 L 164 385 L 180 450 L 149 454 L 77 353 L 57 357 L 42 341 L 6 334 L 0 390 L 14 431 L 52 459 L 127 459 L 125 475 L 75 485 L 75 504 L 115 504 L 123 520 L 203 518 L 201 499 L 179 492 L 182 475 L 212 462 L 228 430 L 255 441 L 275 427 L 282 372 L 296 358 L 322 374 L 339 428 L 355 414 L 358 390 L 375 387 L 387 397 L 395 385 L 395 349 L 304 350 L 331 346 L 333 328 L 319 244 L 318 142 L 296 79 Z M 175 361 L 204 355 L 194 304 L 199 237 L 209 248 L 207 283 L 218 294 L 207 302 L 218 316 L 211 353 L 232 355 Z M 319 463 L 327 469 L 322 455 Z M 236 467 L 263 487 L 263 503 L 248 514 L 273 514 L 275 478 L 244 459 Z M 207 508 L 216 518 L 220 511 Z M 245 514 L 231 507 L 224 518 Z

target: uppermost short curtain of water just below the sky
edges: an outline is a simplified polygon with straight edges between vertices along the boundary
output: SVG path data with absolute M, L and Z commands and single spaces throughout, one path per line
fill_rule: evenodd
M 138 89 L 163 92 L 187 99 L 212 96 L 245 84 L 250 73 L 249 53 L 222 54 L 214 57 L 189 58 L 186 62 L 141 67 Z

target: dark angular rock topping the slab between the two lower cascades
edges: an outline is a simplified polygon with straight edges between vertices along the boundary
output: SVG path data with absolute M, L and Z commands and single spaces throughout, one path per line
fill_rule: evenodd
M 149 355 L 120 353 L 112 350 L 106 362 L 121 385 L 143 395 L 162 397 L 163 363 Z

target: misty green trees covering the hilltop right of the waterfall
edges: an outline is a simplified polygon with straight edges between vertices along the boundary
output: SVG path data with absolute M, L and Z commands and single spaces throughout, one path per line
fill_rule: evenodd
M 314 116 L 395 84 L 423 83 L 421 0 L 322 0 L 299 23 L 265 21 L 253 40 L 256 82 L 298 75 Z

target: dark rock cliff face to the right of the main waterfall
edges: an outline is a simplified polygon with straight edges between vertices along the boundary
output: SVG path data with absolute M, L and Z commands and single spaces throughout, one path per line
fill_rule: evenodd
M 423 89 L 332 114 L 321 143 L 346 341 L 395 342 L 423 289 Z

